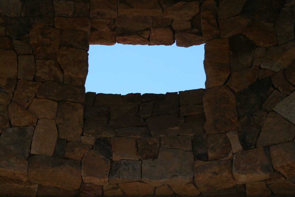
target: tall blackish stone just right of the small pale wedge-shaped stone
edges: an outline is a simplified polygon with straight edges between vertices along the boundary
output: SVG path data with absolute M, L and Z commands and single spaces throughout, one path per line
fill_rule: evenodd
M 239 139 L 243 150 L 254 149 L 260 128 L 254 123 L 251 115 L 246 115 L 239 119 Z

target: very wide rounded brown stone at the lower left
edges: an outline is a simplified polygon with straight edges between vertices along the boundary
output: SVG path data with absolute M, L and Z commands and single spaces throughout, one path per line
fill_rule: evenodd
M 47 155 L 35 155 L 28 159 L 28 180 L 44 186 L 76 190 L 81 185 L 80 163 Z

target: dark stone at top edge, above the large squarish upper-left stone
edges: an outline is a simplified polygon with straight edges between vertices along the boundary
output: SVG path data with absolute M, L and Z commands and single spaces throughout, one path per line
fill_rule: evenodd
M 34 4 L 35 23 L 53 26 L 54 8 L 51 0 L 35 0 Z

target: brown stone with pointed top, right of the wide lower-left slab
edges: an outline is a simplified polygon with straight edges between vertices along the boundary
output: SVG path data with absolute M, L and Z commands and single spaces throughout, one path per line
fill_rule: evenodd
M 85 183 L 108 185 L 111 161 L 95 150 L 86 153 L 81 161 L 82 178 Z

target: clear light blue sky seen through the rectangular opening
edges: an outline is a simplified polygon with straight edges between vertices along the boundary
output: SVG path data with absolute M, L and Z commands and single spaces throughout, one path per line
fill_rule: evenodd
M 88 53 L 86 92 L 165 94 L 205 88 L 204 44 L 90 45 Z

